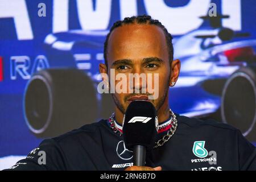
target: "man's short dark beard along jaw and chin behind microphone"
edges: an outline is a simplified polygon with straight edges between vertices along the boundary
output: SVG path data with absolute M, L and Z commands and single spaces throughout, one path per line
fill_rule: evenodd
M 171 75 L 171 73 L 170 73 Z M 155 109 L 156 109 L 156 112 L 158 113 L 158 110 L 160 109 L 160 107 L 164 104 L 164 101 L 166 100 L 166 97 L 167 97 L 167 94 L 168 94 L 168 91 L 169 91 L 169 82 L 170 82 L 170 75 L 168 76 L 168 80 L 166 82 L 166 85 L 164 87 L 164 93 L 163 93 L 163 96 L 160 97 L 160 100 L 156 103 L 154 103 L 154 101 L 156 100 L 152 100 L 152 104 L 155 106 Z M 123 104 L 121 104 L 121 102 L 118 100 L 117 96 L 115 94 L 111 94 L 112 95 L 112 98 L 113 98 L 113 101 L 115 103 L 115 105 L 117 106 L 117 108 L 122 112 L 122 114 L 125 114 L 125 106 Z M 132 93 L 132 94 L 129 94 L 128 96 L 125 97 L 125 102 L 130 98 L 130 97 L 133 97 L 135 95 L 138 95 L 138 93 Z M 149 96 L 150 94 L 146 93 L 146 94 L 140 94 L 140 95 L 144 95 L 144 96 Z

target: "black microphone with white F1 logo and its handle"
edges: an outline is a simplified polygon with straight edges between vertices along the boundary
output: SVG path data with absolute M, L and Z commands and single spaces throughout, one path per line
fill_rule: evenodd
M 151 102 L 135 100 L 123 117 L 123 141 L 133 151 L 134 166 L 145 166 L 146 152 L 154 147 L 158 117 Z

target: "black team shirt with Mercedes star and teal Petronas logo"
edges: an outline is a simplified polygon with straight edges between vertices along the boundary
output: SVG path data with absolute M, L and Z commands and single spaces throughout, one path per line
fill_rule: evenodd
M 161 123 L 158 139 L 167 133 L 168 123 L 170 118 Z M 178 114 L 177 123 L 170 140 L 147 154 L 146 166 L 189 171 L 256 170 L 255 147 L 234 127 Z M 46 154 L 46 164 L 42 164 L 40 158 L 42 151 Z M 19 160 L 10 169 L 124 170 L 132 165 L 133 152 L 125 148 L 123 138 L 113 132 L 108 120 L 102 119 L 43 140 L 26 159 Z

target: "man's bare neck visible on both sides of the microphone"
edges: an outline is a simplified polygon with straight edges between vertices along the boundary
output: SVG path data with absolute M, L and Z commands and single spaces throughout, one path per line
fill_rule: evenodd
M 167 104 L 166 106 L 162 105 L 158 110 L 158 123 L 162 123 L 170 118 L 170 106 Z M 118 107 L 115 107 L 115 121 L 118 122 L 120 125 L 123 123 L 123 113 Z

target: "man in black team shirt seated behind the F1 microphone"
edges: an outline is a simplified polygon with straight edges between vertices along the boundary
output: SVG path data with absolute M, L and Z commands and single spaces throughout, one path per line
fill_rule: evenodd
M 125 75 L 158 73 L 159 97 L 149 100 L 147 86 L 146 93 L 113 93 L 112 117 L 44 140 L 12 169 L 255 170 L 255 147 L 240 131 L 224 123 L 172 113 L 169 89 L 180 72 L 180 61 L 173 60 L 173 52 L 172 36 L 150 16 L 133 16 L 114 23 L 105 41 L 105 64 L 100 64 L 100 72 L 110 75 L 110 69 L 114 69 Z M 143 89 L 142 82 L 135 85 L 132 89 Z M 147 167 L 132 166 L 133 152 L 123 144 L 123 115 L 133 100 L 151 102 L 158 114 L 158 138 L 146 159 Z M 44 163 L 40 162 L 42 151 L 46 153 Z

